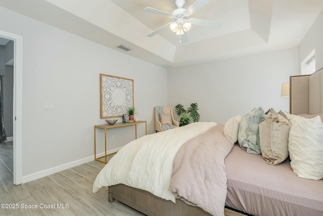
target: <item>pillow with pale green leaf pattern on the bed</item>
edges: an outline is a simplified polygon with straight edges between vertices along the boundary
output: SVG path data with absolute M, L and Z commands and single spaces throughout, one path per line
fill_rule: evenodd
M 243 150 L 251 154 L 261 154 L 259 141 L 259 126 L 266 114 L 261 107 L 254 108 L 240 122 L 238 142 Z

